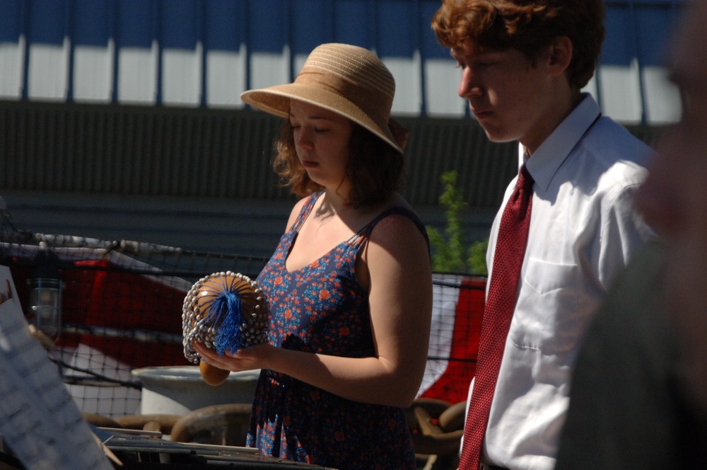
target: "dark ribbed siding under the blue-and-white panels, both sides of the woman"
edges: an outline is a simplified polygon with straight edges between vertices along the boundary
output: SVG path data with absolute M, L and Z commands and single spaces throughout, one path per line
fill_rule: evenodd
M 403 193 L 436 205 L 459 173 L 472 208 L 496 208 L 517 165 L 468 118 L 399 119 L 410 130 Z M 0 101 L 0 188 L 285 200 L 270 166 L 280 120 L 252 110 Z M 633 132 L 650 141 L 655 128 Z

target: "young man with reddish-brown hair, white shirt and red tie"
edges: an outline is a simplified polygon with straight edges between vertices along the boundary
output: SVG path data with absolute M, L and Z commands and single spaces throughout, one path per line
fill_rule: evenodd
M 522 179 L 532 184 L 521 205 L 530 212 L 527 241 L 499 238 L 515 180 L 491 228 L 461 469 L 553 469 L 585 327 L 614 277 L 652 236 L 633 210 L 650 149 L 581 92 L 600 55 L 603 17 L 601 0 L 445 0 L 432 21 L 462 69 L 460 96 L 489 139 L 518 140 Z M 496 269 L 519 248 L 520 273 Z M 494 285 L 511 288 L 496 294 Z M 503 328 L 491 319 L 496 299 L 510 303 Z M 484 339 L 492 335 L 484 329 L 502 330 L 492 379 L 480 372 L 494 368 L 485 352 L 493 340 Z M 477 411 L 475 394 L 489 396 L 490 411 Z M 468 450 L 474 435 L 481 436 L 475 453 Z

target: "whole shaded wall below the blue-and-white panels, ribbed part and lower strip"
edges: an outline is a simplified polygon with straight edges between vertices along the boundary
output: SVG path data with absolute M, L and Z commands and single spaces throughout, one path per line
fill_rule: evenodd
M 469 240 L 483 239 L 517 171 L 515 144 L 469 118 L 400 117 L 403 193 L 443 229 L 440 176 L 457 170 Z M 0 196 L 18 227 L 269 256 L 293 205 L 269 165 L 279 121 L 251 110 L 0 101 Z M 630 127 L 653 142 L 659 127 Z

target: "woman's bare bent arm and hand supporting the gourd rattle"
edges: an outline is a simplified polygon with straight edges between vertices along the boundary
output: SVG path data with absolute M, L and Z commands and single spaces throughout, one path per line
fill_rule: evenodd
M 382 219 L 361 268 L 369 280 L 375 357 L 351 358 L 257 345 L 219 357 L 195 345 L 206 362 L 229 370 L 272 369 L 346 399 L 409 406 L 423 377 L 429 345 L 432 273 L 425 239 L 407 217 Z

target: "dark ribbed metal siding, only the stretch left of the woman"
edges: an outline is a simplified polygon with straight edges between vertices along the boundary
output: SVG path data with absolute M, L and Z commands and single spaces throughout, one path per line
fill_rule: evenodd
M 263 113 L 3 102 L 8 189 L 274 199 Z

